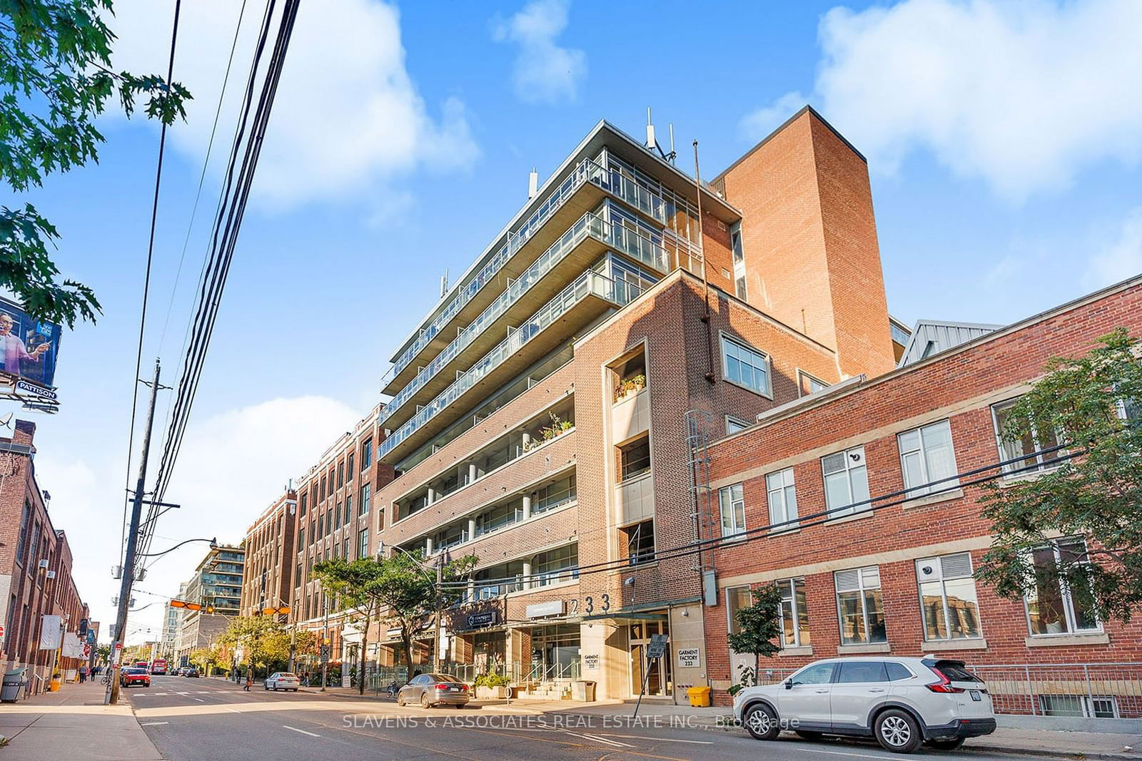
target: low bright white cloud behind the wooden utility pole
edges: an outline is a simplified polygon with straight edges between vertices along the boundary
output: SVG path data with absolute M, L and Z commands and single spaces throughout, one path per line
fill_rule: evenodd
M 340 402 L 306 396 L 222 412 L 191 426 L 167 492 L 168 502 L 183 507 L 160 518 L 152 551 L 186 539 L 240 542 L 287 481 L 360 418 Z M 91 606 L 93 617 L 104 622 L 103 638 L 106 622 L 114 621 L 111 597 L 119 593 L 111 565 L 118 561 L 114 548 L 121 547 L 123 472 L 122 458 L 103 460 L 96 452 L 73 460 L 49 451 L 37 455 L 40 487 L 51 493 L 53 524 L 67 533 L 80 597 Z M 158 596 L 177 593 L 204 552 L 206 544 L 180 548 L 158 559 L 136 584 L 137 606 L 159 600 L 131 615 L 128 631 L 137 632 L 138 640 L 156 635 L 162 617 Z

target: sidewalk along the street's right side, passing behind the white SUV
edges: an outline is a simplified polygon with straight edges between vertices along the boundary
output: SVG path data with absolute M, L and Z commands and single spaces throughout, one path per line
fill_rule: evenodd
M 303 687 L 301 691 L 321 695 L 317 687 Z M 360 699 L 356 688 L 329 687 L 324 695 L 329 697 L 352 697 Z M 378 697 L 365 691 L 367 699 L 376 699 L 381 704 L 394 705 L 387 697 Z M 472 701 L 469 709 L 502 713 L 565 713 L 582 717 L 606 718 L 609 722 L 630 722 L 634 701 L 597 701 L 595 703 L 576 703 L 573 701 L 532 701 L 516 699 L 510 705 L 506 701 Z M 637 722 L 641 726 L 673 726 L 709 729 L 711 731 L 741 731 L 733 727 L 733 712 L 727 706 L 694 709 L 689 705 L 674 705 L 659 701 L 644 701 L 638 709 Z M 1063 756 L 1076 759 L 1111 759 L 1126 761 L 1142 760 L 1142 722 L 1139 734 L 1080 732 L 1054 729 L 1013 729 L 1000 727 L 986 737 L 968 739 L 963 750 L 987 751 L 998 753 L 1024 753 L 1028 755 Z

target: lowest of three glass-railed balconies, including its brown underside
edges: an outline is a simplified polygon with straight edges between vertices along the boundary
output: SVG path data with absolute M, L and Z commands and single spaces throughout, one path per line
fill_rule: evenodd
M 612 272 L 608 261 L 608 272 Z M 377 452 L 386 463 L 397 462 L 431 436 L 465 414 L 471 405 L 506 383 L 539 357 L 555 349 L 606 309 L 622 306 L 642 292 L 638 284 L 616 282 L 589 269 L 494 349 L 456 379 L 384 440 Z M 554 326 L 558 326 L 554 330 Z M 467 404 L 463 404 L 466 402 Z

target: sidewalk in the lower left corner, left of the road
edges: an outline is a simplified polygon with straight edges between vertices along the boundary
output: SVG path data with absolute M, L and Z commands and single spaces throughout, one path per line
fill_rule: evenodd
M 106 689 L 96 679 L 0 704 L 0 735 L 9 743 L 0 761 L 161 761 L 126 699 L 103 705 Z

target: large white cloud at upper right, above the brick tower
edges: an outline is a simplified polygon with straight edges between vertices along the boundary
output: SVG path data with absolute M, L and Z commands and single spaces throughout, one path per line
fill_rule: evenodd
M 833 8 L 811 99 L 878 171 L 930 151 L 1019 201 L 1100 161 L 1139 160 L 1139 29 L 1136 0 Z M 747 115 L 749 137 L 793 95 Z

